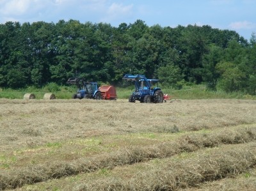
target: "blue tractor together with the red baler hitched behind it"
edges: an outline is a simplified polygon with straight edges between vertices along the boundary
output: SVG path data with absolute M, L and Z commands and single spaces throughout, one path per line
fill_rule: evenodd
M 67 84 L 74 84 L 78 88 L 77 93 L 72 95 L 73 99 L 116 100 L 116 89 L 114 86 L 98 87 L 97 82 L 87 82 L 78 77 L 68 79 Z

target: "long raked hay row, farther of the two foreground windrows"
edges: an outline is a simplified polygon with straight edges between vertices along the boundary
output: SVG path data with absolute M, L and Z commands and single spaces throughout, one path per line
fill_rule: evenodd
M 98 169 L 113 169 L 116 166 L 145 162 L 152 158 L 172 157 L 184 151 L 193 152 L 223 144 L 239 144 L 255 140 L 255 127 L 241 128 L 230 132 L 221 130 L 216 133 L 186 135 L 176 141 L 166 141 L 145 147 L 120 148 L 118 151 L 109 154 L 80 158 L 72 162 L 55 161 L 50 164 L 31 165 L 3 171 L 0 174 L 0 189 L 22 187 L 25 184 L 33 184 L 82 172 L 93 172 Z

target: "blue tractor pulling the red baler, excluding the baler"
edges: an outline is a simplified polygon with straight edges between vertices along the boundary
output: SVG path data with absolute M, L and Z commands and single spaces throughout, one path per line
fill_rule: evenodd
M 77 86 L 77 93 L 72 95 L 73 99 L 95 99 L 101 100 L 102 95 L 98 89 L 97 82 L 86 82 L 84 79 L 80 79 L 78 77 L 72 77 L 67 80 L 67 84 L 74 84 Z

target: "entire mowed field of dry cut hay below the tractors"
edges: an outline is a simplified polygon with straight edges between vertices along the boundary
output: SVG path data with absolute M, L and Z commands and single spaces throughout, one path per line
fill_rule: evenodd
M 0 99 L 0 190 L 256 190 L 256 100 Z

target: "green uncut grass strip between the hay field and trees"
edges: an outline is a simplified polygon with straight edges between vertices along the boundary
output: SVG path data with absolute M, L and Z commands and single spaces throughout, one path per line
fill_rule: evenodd
M 116 87 L 116 95 L 118 99 L 128 99 L 132 93 L 134 86 L 125 88 Z M 163 88 L 163 93 L 168 94 L 173 99 L 250 99 L 256 100 L 254 95 L 244 95 L 241 92 L 225 93 L 224 91 L 209 91 L 205 84 L 184 86 L 182 89 Z M 77 88 L 74 86 L 58 86 L 49 84 L 44 88 L 29 87 L 25 89 L 2 89 L 0 88 L 0 98 L 22 99 L 26 93 L 33 93 L 36 100 L 43 99 L 45 93 L 53 93 L 58 99 L 70 99 L 76 93 Z

